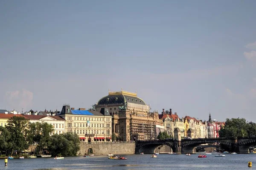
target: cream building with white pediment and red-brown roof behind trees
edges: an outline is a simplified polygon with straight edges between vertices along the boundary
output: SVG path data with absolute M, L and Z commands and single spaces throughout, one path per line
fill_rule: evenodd
M 47 116 L 47 115 L 24 115 L 29 119 L 29 122 L 46 122 L 47 124 L 51 124 L 54 128 L 55 134 L 62 134 L 65 132 L 65 119 L 61 116 Z

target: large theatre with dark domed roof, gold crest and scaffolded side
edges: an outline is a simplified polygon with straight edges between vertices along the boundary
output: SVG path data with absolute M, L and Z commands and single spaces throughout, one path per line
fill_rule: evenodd
M 112 116 L 112 133 L 121 141 L 137 141 L 156 139 L 162 129 L 163 122 L 157 112 L 150 112 L 143 99 L 137 97 L 137 92 L 110 92 L 101 98 L 96 105 L 97 111 L 102 108 L 109 110 Z

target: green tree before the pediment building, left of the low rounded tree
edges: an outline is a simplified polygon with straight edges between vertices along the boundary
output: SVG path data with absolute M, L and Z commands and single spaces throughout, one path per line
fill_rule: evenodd
M 47 143 L 50 138 L 50 134 L 54 131 L 51 124 L 46 122 L 36 122 L 29 124 L 29 144 L 36 143 L 36 152 L 38 154 L 47 147 Z

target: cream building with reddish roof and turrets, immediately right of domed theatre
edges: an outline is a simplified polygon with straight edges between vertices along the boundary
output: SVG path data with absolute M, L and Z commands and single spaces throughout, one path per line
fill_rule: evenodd
M 163 121 L 164 130 L 168 133 L 168 135 L 171 136 L 171 138 L 174 138 L 175 128 L 178 128 L 180 130 L 180 135 L 182 138 L 184 138 L 184 121 L 183 118 L 179 118 L 177 112 L 175 112 L 175 114 L 172 114 L 172 109 L 170 109 L 170 111 L 165 111 L 165 109 L 163 109 L 163 112 L 161 115 L 159 115 L 159 118 Z

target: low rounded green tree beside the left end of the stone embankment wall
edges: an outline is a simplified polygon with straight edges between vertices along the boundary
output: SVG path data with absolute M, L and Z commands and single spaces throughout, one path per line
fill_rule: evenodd
M 52 135 L 47 143 L 47 148 L 52 156 L 73 156 L 80 150 L 79 136 L 76 133 Z

